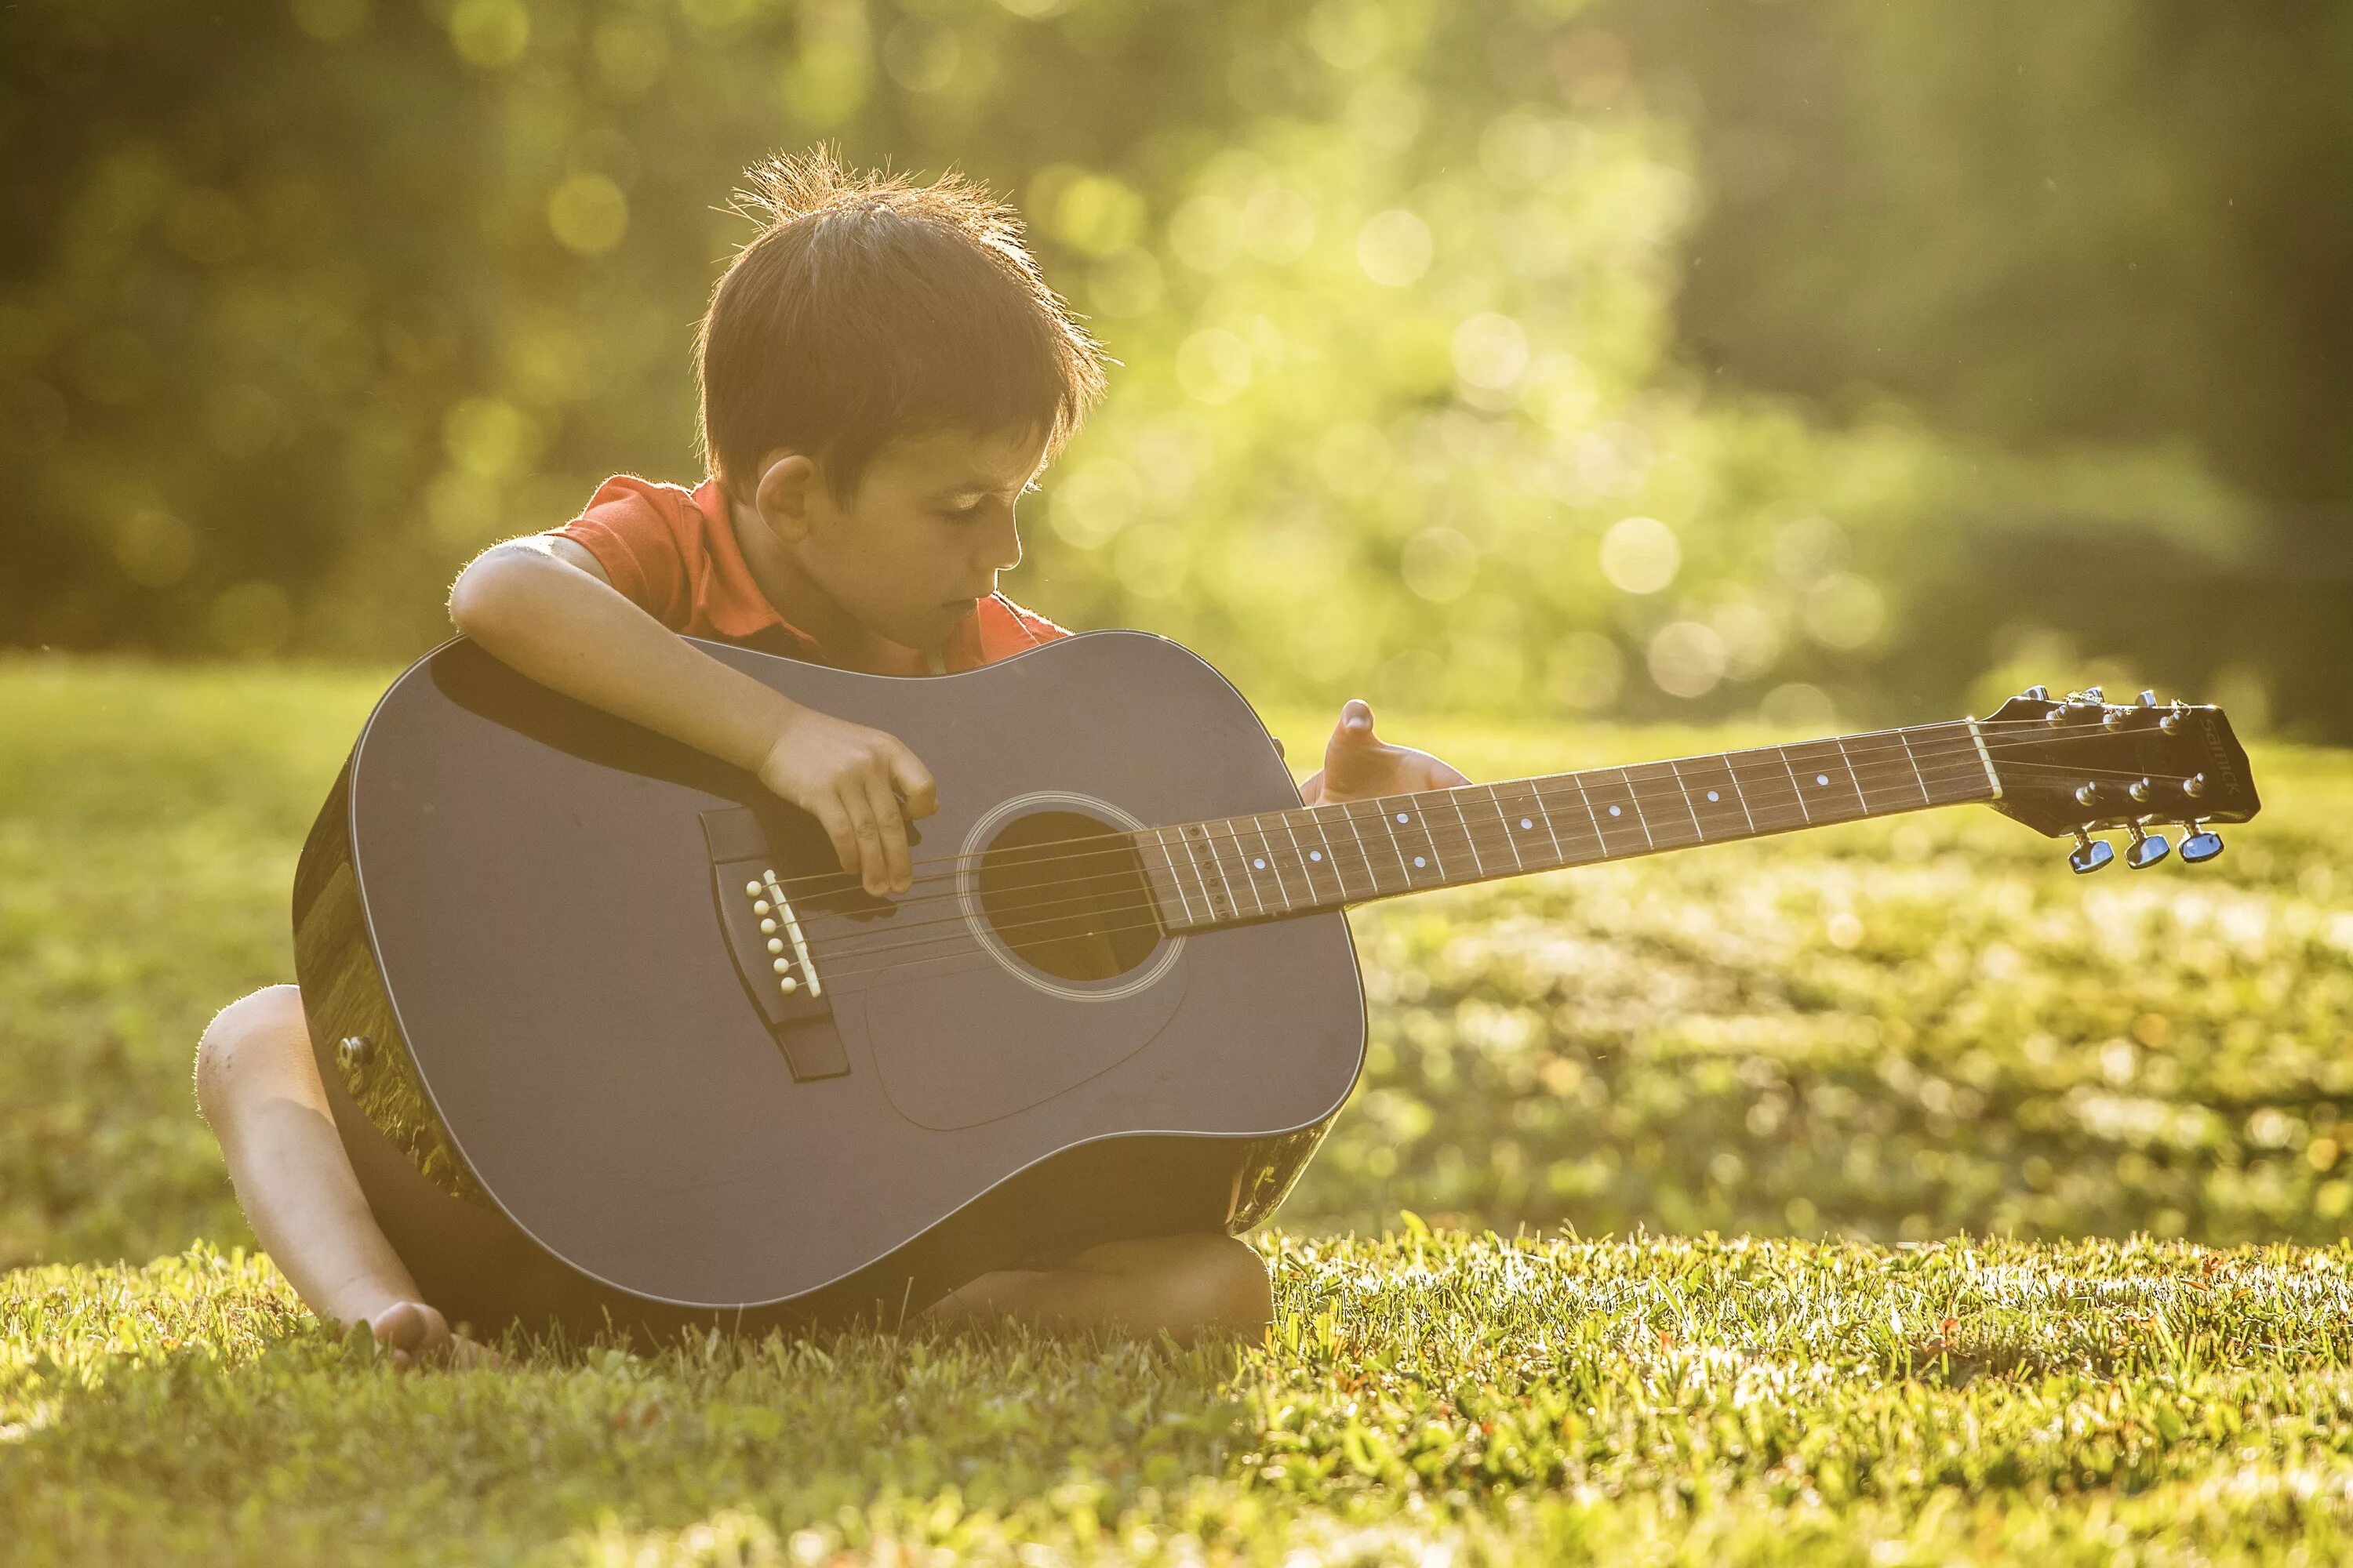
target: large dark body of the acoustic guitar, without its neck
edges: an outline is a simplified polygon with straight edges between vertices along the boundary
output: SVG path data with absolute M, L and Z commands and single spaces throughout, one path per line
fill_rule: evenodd
M 1297 809 L 1242 696 L 1144 632 L 929 679 L 699 646 L 922 757 L 915 886 L 842 886 L 748 773 L 471 642 L 412 665 L 311 830 L 294 936 L 339 1133 L 426 1298 L 642 1342 L 896 1321 L 988 1269 L 1264 1220 L 1362 1063 L 1346 919 L 1169 936 L 1129 882 L 1104 907 L 1132 919 L 1056 947 L 974 870 Z M 821 994 L 779 999 L 746 875 L 828 872 L 795 896 Z

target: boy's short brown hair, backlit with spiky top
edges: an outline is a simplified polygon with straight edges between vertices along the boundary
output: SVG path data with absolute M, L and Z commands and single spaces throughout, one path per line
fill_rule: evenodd
M 736 252 L 696 336 L 704 461 L 751 498 L 760 458 L 809 454 L 840 501 L 927 430 L 1042 433 L 1104 393 L 1104 350 L 1038 275 L 1021 219 L 960 174 L 842 169 L 826 148 L 748 169 Z

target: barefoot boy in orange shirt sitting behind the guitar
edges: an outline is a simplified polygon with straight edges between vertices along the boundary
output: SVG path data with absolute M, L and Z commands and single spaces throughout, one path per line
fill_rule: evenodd
M 936 809 L 922 759 L 680 632 L 908 677 L 1068 635 L 995 578 L 1021 559 L 1014 503 L 1101 393 L 1104 360 L 981 188 L 847 174 L 821 153 L 753 179 L 762 233 L 699 339 L 711 480 L 607 480 L 562 529 L 466 567 L 449 618 L 525 675 L 758 773 L 816 816 L 842 870 L 889 896 L 911 882 L 906 820 Z M 1348 703 L 1301 799 L 1454 783 L 1468 780 L 1381 745 L 1372 710 Z M 224 1009 L 198 1044 L 195 1088 L 254 1234 L 320 1319 L 367 1321 L 400 1366 L 482 1354 L 421 1300 L 369 1213 L 301 992 Z M 932 1307 L 941 1321 L 1000 1314 L 1188 1340 L 1254 1335 L 1273 1298 L 1252 1248 L 1202 1234 L 984 1274 Z

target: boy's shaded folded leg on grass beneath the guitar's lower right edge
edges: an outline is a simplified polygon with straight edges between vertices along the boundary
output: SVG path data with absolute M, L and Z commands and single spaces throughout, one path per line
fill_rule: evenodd
M 1019 1316 L 1049 1328 L 1167 1333 L 1181 1345 L 1205 1333 L 1259 1335 L 1275 1316 L 1266 1262 L 1233 1237 L 1106 1241 L 1054 1269 L 981 1274 L 925 1316 L 974 1324 Z

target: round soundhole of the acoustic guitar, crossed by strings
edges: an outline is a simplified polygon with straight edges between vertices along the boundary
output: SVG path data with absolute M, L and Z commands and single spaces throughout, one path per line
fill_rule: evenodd
M 1160 945 L 1134 839 L 1075 811 L 1038 811 L 981 851 L 981 914 L 1056 980 L 1111 980 Z

